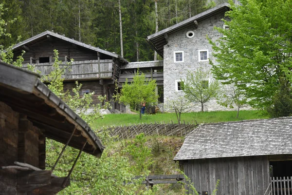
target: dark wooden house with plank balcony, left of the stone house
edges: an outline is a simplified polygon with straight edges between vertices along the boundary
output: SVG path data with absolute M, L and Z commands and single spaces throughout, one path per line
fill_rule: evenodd
M 77 80 L 82 84 L 80 95 L 94 92 L 93 103 L 98 103 L 96 96 L 107 96 L 110 100 L 114 92 L 114 81 L 119 79 L 120 68 L 128 61 L 118 54 L 93 47 L 74 39 L 59 35 L 52 31 L 45 31 L 30 39 L 26 39 L 13 48 L 14 60 L 25 51 L 23 55 L 23 69 L 27 64 L 35 65 L 41 75 L 47 75 L 53 70 L 54 49 L 59 52 L 60 67 L 64 67 L 70 59 L 71 66 L 66 69 L 64 89 L 71 90 Z M 115 108 L 114 104 L 112 105 Z

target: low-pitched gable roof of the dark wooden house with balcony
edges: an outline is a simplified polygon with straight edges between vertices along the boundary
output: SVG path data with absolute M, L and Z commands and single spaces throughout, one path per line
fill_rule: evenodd
M 70 39 L 68 37 L 65 37 L 63 35 L 59 35 L 57 33 L 54 33 L 52 31 L 45 31 L 45 32 L 42 32 L 32 38 L 29 38 L 29 39 L 26 39 L 22 42 L 19 42 L 18 44 L 14 45 L 12 47 L 13 50 L 15 49 L 22 49 L 21 47 L 22 46 L 25 46 L 25 45 L 29 45 L 29 44 L 34 44 L 40 40 L 43 40 L 43 39 L 47 39 L 47 37 L 49 36 L 53 36 L 55 38 L 58 38 L 58 39 L 62 39 L 62 40 L 65 40 L 67 42 L 70 42 L 70 43 L 73 43 L 73 44 L 76 44 L 78 46 L 81 46 L 81 47 L 84 47 L 84 48 L 87 48 L 87 49 L 90 49 L 90 50 L 93 50 L 93 51 L 96 51 L 96 52 L 99 52 L 101 54 L 104 54 L 104 55 L 108 55 L 110 57 L 113 57 L 113 58 L 116 58 L 116 59 L 119 59 L 120 61 L 122 62 L 125 62 L 125 63 L 128 63 L 128 61 L 124 58 L 122 58 L 120 55 L 118 54 L 115 54 L 115 53 L 112 53 L 112 52 L 109 52 L 109 51 L 106 51 L 106 50 L 103 50 L 103 49 L 100 49 L 100 48 L 97 48 L 97 47 L 93 47 L 91 45 L 88 45 L 88 44 L 85 44 L 85 43 L 82 43 L 82 42 L 79 42 L 77 40 L 74 40 L 74 39 Z

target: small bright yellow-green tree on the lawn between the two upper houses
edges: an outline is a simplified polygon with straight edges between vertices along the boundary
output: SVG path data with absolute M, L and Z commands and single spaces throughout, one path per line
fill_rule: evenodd
M 142 102 L 151 104 L 157 101 L 158 96 L 155 94 L 156 80 L 148 80 L 144 73 L 139 75 L 139 71 L 135 73 L 133 80 L 128 83 L 128 79 L 123 84 L 119 93 L 119 88 L 116 85 L 116 94 L 114 98 L 118 102 L 128 104 L 131 108 L 139 108 L 141 110 Z M 140 119 L 142 118 L 140 112 Z

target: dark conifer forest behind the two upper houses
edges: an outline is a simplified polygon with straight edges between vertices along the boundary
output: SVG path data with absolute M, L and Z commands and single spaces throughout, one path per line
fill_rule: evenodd
M 128 61 L 148 61 L 154 59 L 148 35 L 223 1 L 0 0 L 6 9 L 2 16 L 7 21 L 6 33 L 11 34 L 10 38 L 1 37 L 0 44 L 6 48 L 18 38 L 21 41 L 50 30 L 121 55 L 122 27 L 121 56 Z

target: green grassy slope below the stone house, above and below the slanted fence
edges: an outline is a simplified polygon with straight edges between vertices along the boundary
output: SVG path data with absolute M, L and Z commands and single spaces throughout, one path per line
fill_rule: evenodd
M 236 118 L 236 111 L 219 111 L 219 112 L 203 112 L 203 113 L 185 113 L 182 114 L 182 120 L 192 122 L 197 120 L 198 123 L 223 122 L 234 120 L 246 120 L 266 118 L 262 111 L 240 111 L 239 118 Z M 131 114 L 112 114 L 106 115 L 103 119 L 95 122 L 95 127 L 110 125 L 128 125 L 129 123 L 150 123 L 154 121 L 177 122 L 174 113 L 164 113 L 156 115 L 145 115 L 142 120 L 139 115 Z M 179 163 L 174 162 L 173 158 L 181 148 L 184 137 L 147 137 L 146 146 L 151 148 L 153 155 L 153 164 L 150 167 L 150 175 L 173 175 L 180 174 L 177 170 L 180 169 Z M 125 140 L 124 142 L 125 143 Z M 121 141 L 115 142 L 111 149 L 112 153 L 121 150 L 125 145 Z M 184 195 L 182 184 L 159 184 L 155 186 L 155 195 Z

